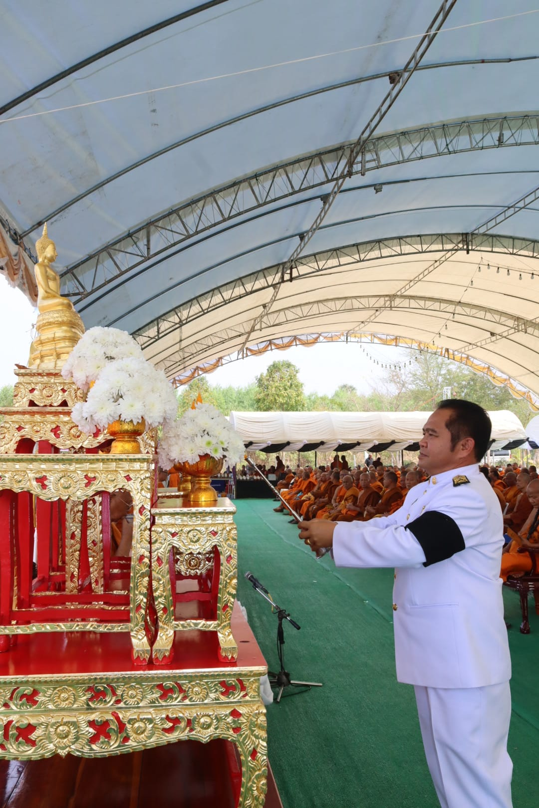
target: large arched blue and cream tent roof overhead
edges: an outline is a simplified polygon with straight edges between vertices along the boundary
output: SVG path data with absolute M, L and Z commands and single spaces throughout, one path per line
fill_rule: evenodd
M 2 225 L 33 253 L 47 220 L 86 327 L 135 334 L 170 378 L 267 339 L 362 331 L 539 393 L 528 0 L 458 0 L 281 282 L 439 6 L 0 0 Z

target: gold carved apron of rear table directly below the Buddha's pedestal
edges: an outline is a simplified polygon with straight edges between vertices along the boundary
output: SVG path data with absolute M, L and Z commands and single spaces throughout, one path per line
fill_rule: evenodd
M 64 407 L 49 409 L 44 412 L 39 407 L 26 409 L 2 410 L 4 420 L 0 424 L 0 453 L 12 454 L 19 440 L 30 438 L 34 443 L 48 440 L 58 448 L 93 448 L 108 440 L 103 434 L 94 437 L 80 431 L 71 420 Z

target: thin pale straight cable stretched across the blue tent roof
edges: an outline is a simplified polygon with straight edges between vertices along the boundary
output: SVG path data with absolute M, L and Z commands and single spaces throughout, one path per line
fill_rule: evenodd
M 478 20 L 475 23 L 463 23 L 462 25 L 453 25 L 452 27 L 443 28 L 438 32 L 438 36 L 442 33 L 452 31 L 461 31 L 463 28 L 476 27 L 478 25 L 487 25 L 489 23 L 499 23 L 506 19 L 515 19 L 516 17 L 524 17 L 531 14 L 539 13 L 539 8 L 530 9 L 529 11 L 519 11 L 516 14 L 508 14 L 503 17 L 492 17 L 491 19 Z M 0 124 L 6 124 L 11 120 L 24 120 L 25 118 L 36 118 L 43 115 L 51 115 L 53 112 L 66 112 L 71 109 L 79 109 L 81 107 L 91 107 L 98 103 L 107 103 L 109 101 L 120 101 L 121 99 L 134 98 L 137 95 L 147 95 L 149 93 L 159 93 L 165 90 L 175 90 L 180 87 L 192 86 L 194 84 L 204 84 L 206 82 L 215 82 L 221 78 L 234 78 L 234 76 L 243 76 L 250 73 L 259 73 L 262 70 L 271 70 L 277 67 L 286 67 L 288 65 L 297 65 L 305 61 L 314 61 L 317 59 L 326 59 L 332 56 L 340 56 L 343 53 L 355 53 L 357 51 L 366 50 L 368 48 L 380 48 L 385 45 L 395 44 L 398 42 L 406 42 L 407 40 L 421 39 L 424 34 L 410 34 L 409 36 L 399 36 L 393 40 L 384 40 L 383 42 L 373 42 L 372 44 L 357 45 L 355 48 L 343 48 L 339 51 L 331 51 L 330 53 L 318 53 L 315 56 L 301 57 L 299 59 L 290 59 L 288 61 L 276 62 L 272 65 L 261 65 L 260 67 L 246 68 L 245 70 L 237 70 L 234 73 L 223 73 L 217 76 L 207 76 L 206 78 L 195 78 L 188 82 L 179 82 L 179 84 L 169 84 L 163 87 L 154 87 L 150 90 L 137 90 L 133 93 L 125 93 L 124 95 L 112 95 L 106 99 L 95 99 L 94 101 L 85 101 L 83 103 L 70 104 L 67 107 L 56 107 L 55 109 L 42 110 L 41 112 L 28 112 L 25 115 L 17 115 L 11 118 L 4 118 L 0 120 Z M 39 100 L 39 99 L 38 99 Z

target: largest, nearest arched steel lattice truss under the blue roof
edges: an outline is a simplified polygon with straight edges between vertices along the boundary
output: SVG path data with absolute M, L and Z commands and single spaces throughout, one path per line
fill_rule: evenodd
M 400 163 L 519 145 L 539 145 L 539 115 L 465 120 L 375 137 L 351 172 L 365 175 Z M 187 200 L 67 267 L 61 273 L 62 292 L 77 304 L 135 268 L 149 267 L 167 250 L 257 209 L 269 211 L 281 200 L 326 186 L 347 165 L 351 148 L 346 143 L 326 149 Z

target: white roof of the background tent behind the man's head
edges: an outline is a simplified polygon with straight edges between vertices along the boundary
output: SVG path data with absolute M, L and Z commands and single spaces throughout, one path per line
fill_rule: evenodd
M 322 441 L 324 448 L 364 442 L 364 448 L 395 441 L 412 444 L 423 434 L 429 412 L 238 412 L 229 420 L 253 444 L 301 444 Z M 520 420 L 509 410 L 489 412 L 493 440 L 526 440 Z M 302 444 L 303 445 L 303 444 Z

